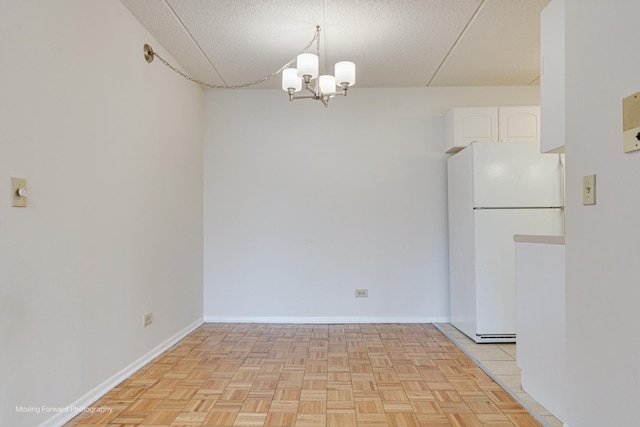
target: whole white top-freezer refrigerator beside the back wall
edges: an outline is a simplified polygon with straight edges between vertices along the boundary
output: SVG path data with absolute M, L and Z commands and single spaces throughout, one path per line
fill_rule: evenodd
M 474 142 L 447 173 L 451 324 L 478 343 L 515 342 L 513 235 L 563 234 L 562 159 L 538 143 Z

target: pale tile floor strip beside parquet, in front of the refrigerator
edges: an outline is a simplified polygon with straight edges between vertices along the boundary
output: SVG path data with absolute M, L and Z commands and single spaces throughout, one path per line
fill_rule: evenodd
M 437 323 L 434 326 L 544 426 L 563 426 L 560 420 L 522 390 L 520 368 L 516 365 L 516 344 L 477 344 L 449 323 Z

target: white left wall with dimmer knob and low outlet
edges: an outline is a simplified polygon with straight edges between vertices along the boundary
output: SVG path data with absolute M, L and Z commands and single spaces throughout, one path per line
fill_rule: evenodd
M 0 2 L 0 425 L 87 403 L 202 317 L 202 91 L 145 42 L 118 1 Z

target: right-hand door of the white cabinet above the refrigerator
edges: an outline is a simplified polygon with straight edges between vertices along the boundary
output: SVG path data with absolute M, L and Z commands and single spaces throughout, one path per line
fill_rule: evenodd
M 500 141 L 540 142 L 540 107 L 500 107 Z

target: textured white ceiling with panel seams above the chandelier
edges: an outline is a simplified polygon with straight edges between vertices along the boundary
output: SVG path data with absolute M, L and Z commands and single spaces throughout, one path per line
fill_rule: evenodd
M 158 53 L 210 84 L 278 70 L 320 25 L 321 73 L 348 60 L 358 87 L 418 87 L 538 84 L 550 0 L 121 1 L 162 44 L 152 44 Z M 277 76 L 256 88 L 279 87 Z

